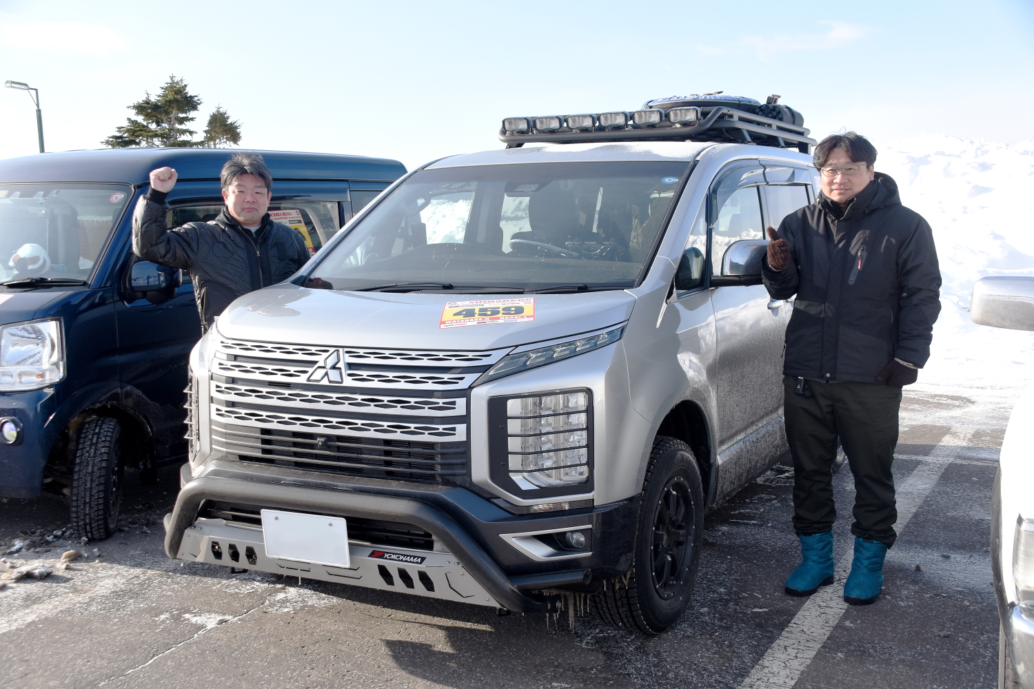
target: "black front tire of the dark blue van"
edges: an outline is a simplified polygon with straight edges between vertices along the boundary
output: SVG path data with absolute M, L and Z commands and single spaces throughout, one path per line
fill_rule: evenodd
M 71 525 L 90 540 L 115 533 L 122 501 L 122 427 L 114 418 L 83 424 L 71 481 Z

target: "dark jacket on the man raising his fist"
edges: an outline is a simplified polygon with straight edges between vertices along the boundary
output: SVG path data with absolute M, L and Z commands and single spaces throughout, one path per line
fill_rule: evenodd
M 269 214 L 253 237 L 225 207 L 209 222 L 168 229 L 164 200 L 165 194 L 151 190 L 136 201 L 132 250 L 146 260 L 190 273 L 203 331 L 235 299 L 286 280 L 309 259 L 301 234 L 270 221 Z

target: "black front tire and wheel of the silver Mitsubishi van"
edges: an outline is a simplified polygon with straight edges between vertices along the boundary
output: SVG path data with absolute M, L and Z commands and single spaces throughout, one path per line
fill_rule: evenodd
M 673 625 L 693 592 L 703 543 L 704 497 L 689 445 L 653 441 L 640 495 L 632 571 L 594 596 L 604 622 L 644 634 Z

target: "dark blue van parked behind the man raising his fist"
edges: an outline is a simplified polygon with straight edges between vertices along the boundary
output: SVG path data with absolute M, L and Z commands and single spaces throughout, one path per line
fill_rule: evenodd
M 148 174 L 175 167 L 170 226 L 211 220 L 230 151 L 118 149 L 0 160 L 0 497 L 68 498 L 79 535 L 116 527 L 126 466 L 186 459 L 193 287 L 132 253 Z M 262 151 L 274 220 L 315 253 L 403 174 L 395 160 Z

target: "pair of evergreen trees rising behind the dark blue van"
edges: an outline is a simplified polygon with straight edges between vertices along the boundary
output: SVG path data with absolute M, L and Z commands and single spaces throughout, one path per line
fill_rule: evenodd
M 116 127 L 115 133 L 101 144 L 110 148 L 156 147 L 186 148 L 239 144 L 240 122 L 231 121 L 230 115 L 217 107 L 209 117 L 205 137 L 194 140 L 197 132 L 187 128 L 194 121 L 193 113 L 201 107 L 202 99 L 188 91 L 186 82 L 175 74 L 161 87 L 156 96 L 145 92 L 144 99 L 129 109 L 139 119 L 127 118 L 126 124 Z

